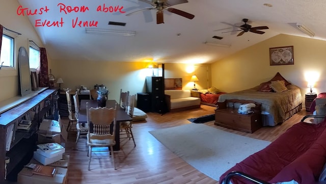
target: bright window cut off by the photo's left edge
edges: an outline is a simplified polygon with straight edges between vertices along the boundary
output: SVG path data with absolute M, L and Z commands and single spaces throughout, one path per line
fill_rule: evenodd
M 9 34 L 3 33 L 0 64 L 2 62 L 5 67 L 14 67 L 14 55 L 15 55 L 15 38 L 9 36 Z

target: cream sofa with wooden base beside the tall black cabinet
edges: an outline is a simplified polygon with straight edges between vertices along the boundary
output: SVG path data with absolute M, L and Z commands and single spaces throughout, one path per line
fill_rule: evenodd
M 169 112 L 200 108 L 200 98 L 192 96 L 191 90 L 165 90 Z

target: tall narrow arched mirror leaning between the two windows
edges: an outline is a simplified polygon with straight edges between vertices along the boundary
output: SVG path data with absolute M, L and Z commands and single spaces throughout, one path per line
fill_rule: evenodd
M 30 59 L 25 47 L 20 47 L 18 52 L 18 80 L 20 95 L 24 96 L 32 92 Z

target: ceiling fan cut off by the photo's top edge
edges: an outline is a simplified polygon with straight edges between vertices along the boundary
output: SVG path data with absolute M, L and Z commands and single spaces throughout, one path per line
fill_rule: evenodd
M 174 5 L 179 5 L 179 4 L 182 4 L 182 3 L 188 3 L 187 0 L 152 0 L 151 2 L 147 1 L 147 0 L 138 0 L 138 1 L 148 3 L 148 4 L 152 5 L 152 8 L 146 8 L 146 9 L 138 10 L 138 11 L 135 11 L 135 12 L 131 12 L 129 14 L 126 14 L 126 16 L 129 16 L 129 15 L 131 15 L 133 13 L 136 13 L 136 12 L 156 9 L 157 10 L 157 12 L 156 12 L 156 23 L 159 24 L 159 23 L 164 23 L 163 11 L 164 11 L 164 9 L 166 9 L 171 13 L 175 13 L 177 15 L 183 16 L 183 17 L 188 18 L 188 19 L 193 19 L 195 17 L 195 15 L 184 12 L 182 10 L 178 10 L 178 9 L 175 9 L 175 8 L 168 8 L 168 7 L 171 7 L 171 6 L 174 6 Z

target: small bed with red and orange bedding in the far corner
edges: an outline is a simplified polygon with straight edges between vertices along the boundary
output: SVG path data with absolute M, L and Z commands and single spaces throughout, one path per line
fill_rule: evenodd
M 199 90 L 198 92 L 200 92 L 200 103 L 213 107 L 216 107 L 216 103 L 218 102 L 220 95 L 225 94 L 215 87 Z

